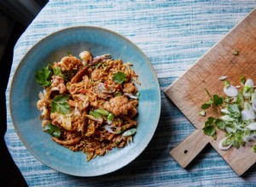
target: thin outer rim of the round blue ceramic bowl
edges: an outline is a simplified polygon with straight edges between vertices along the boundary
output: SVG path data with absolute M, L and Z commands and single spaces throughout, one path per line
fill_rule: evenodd
M 158 100 L 158 103 L 159 103 L 159 108 L 160 110 L 157 111 L 157 113 L 155 113 L 156 115 L 156 124 L 154 125 L 154 129 L 152 130 L 153 133 L 150 134 L 150 137 L 148 139 L 148 141 L 146 142 L 147 144 L 144 144 L 144 147 L 142 149 L 142 151 L 140 153 L 138 153 L 133 159 L 131 159 L 130 161 L 126 161 L 124 164 L 122 164 L 120 167 L 116 167 L 114 169 L 112 169 L 111 171 L 108 171 L 108 172 L 105 172 L 105 173 L 98 173 L 98 174 L 93 174 L 93 175 L 79 175 L 79 174 L 73 174 L 73 173 L 68 173 L 68 172 L 63 172 L 63 171 L 60 171 L 58 170 L 57 168 L 54 168 L 52 166 L 49 166 L 49 164 L 46 164 L 44 163 L 44 161 L 41 161 L 37 156 L 35 156 L 32 152 L 32 150 L 30 150 L 29 146 L 26 144 L 25 140 L 20 136 L 20 133 L 18 132 L 18 129 L 17 129 L 17 126 L 14 122 L 14 116 L 13 116 L 13 113 L 12 113 L 12 105 L 11 105 L 11 99 L 12 99 L 12 93 L 13 93 L 13 84 L 14 84 L 14 81 L 15 81 L 15 77 L 17 76 L 17 73 L 18 71 L 20 70 L 20 66 L 23 65 L 26 61 L 26 56 L 31 54 L 33 49 L 34 48 L 37 48 L 41 42 L 44 42 L 45 40 L 48 40 L 50 37 L 54 37 L 55 35 L 58 35 L 59 32 L 62 32 L 62 31 L 69 31 L 69 30 L 77 30 L 77 29 L 92 29 L 92 30 L 100 30 L 100 31 L 104 31 L 104 32 L 109 32 L 111 34 L 113 34 L 115 37 L 119 37 L 121 40 L 125 40 L 126 42 L 130 43 L 131 46 L 133 48 L 136 48 L 137 52 L 139 52 L 141 55 L 143 55 L 143 59 L 146 59 L 146 63 L 148 64 L 148 67 L 151 69 L 151 72 L 153 73 L 154 75 L 154 78 L 155 78 L 155 81 L 157 83 L 157 88 L 155 88 L 157 90 L 157 94 L 158 94 L 158 98 L 156 98 Z M 9 115 L 10 115 L 10 119 L 11 119 L 11 123 L 13 124 L 14 128 L 15 128 L 15 133 L 17 134 L 17 136 L 19 137 L 21 143 L 25 146 L 26 150 L 32 154 L 32 156 L 38 160 L 39 162 L 41 162 L 42 164 L 44 164 L 45 166 L 57 171 L 57 172 L 60 172 L 60 173 L 65 173 L 65 174 L 68 174 L 68 175 L 72 175 L 72 176 L 77 176 L 77 177 L 96 177 L 96 176 L 102 176 L 102 175 L 106 175 L 108 173 L 113 173 L 125 166 L 127 166 L 129 163 L 131 163 L 131 161 L 134 161 L 138 156 L 141 155 L 141 153 L 143 153 L 143 151 L 148 147 L 148 144 L 150 143 L 150 141 L 153 139 L 153 136 L 154 136 L 154 133 L 156 131 L 156 128 L 158 127 L 158 124 L 159 124 L 159 121 L 160 121 L 160 111 L 161 111 L 161 96 L 160 96 L 160 83 L 159 83 L 159 80 L 158 80 L 158 77 L 154 71 L 154 67 L 153 65 L 151 64 L 150 60 L 148 59 L 148 57 L 146 56 L 146 54 L 143 53 L 143 50 L 141 48 L 138 48 L 137 44 L 135 44 L 134 42 L 131 42 L 130 39 L 128 39 L 127 37 L 124 37 L 123 35 L 119 34 L 118 32 L 116 31 L 112 31 L 112 30 L 109 30 L 109 29 L 106 29 L 104 27 L 100 27 L 100 26 L 69 26 L 69 27 L 65 27 L 65 28 L 61 28 L 57 31 L 53 31 L 53 32 L 50 32 L 49 34 L 47 34 L 46 36 L 42 37 L 41 39 L 38 40 L 38 42 L 35 42 L 34 44 L 32 44 L 32 47 L 31 48 L 28 48 L 26 53 L 23 54 L 22 58 L 20 59 L 20 61 L 18 62 L 16 68 L 15 68 L 15 71 L 13 73 L 13 76 L 11 77 L 11 80 L 9 80 L 10 84 L 9 84 L 9 92 L 8 92 L 8 96 L 9 96 L 9 99 L 8 99 L 8 102 L 9 102 Z

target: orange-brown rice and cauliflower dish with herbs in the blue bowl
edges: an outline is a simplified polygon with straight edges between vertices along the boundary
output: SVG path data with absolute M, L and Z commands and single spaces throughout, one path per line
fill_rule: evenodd
M 36 73 L 44 88 L 37 107 L 44 132 L 90 161 L 132 142 L 140 82 L 131 62 L 89 51 L 79 56 L 69 54 Z

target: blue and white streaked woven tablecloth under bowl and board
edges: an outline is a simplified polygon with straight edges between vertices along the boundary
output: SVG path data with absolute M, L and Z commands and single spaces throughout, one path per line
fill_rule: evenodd
M 177 77 L 230 31 L 255 1 L 50 1 L 15 45 L 9 79 L 26 51 L 53 31 L 69 26 L 101 26 L 136 43 L 148 56 L 161 89 L 160 122 L 146 150 L 114 173 L 78 178 L 58 173 L 34 158 L 20 142 L 7 108 L 5 141 L 29 186 L 228 186 L 256 185 L 256 166 L 238 177 L 208 145 L 183 169 L 170 156 L 195 129 L 163 94 Z M 256 43 L 255 43 L 256 44 Z M 9 107 L 9 86 L 6 92 Z

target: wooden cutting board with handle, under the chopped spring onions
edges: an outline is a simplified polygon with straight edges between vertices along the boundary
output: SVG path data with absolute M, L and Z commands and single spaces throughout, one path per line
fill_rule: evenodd
M 239 54 L 234 55 L 234 50 Z M 202 127 L 207 117 L 211 116 L 211 111 L 207 111 L 207 116 L 198 115 L 201 105 L 209 99 L 205 88 L 211 94 L 224 95 L 224 82 L 218 77 L 227 76 L 231 84 L 240 85 L 242 75 L 256 82 L 256 8 L 165 90 L 166 95 L 196 127 L 194 133 L 170 152 L 182 167 L 186 167 L 208 143 L 238 175 L 245 173 L 256 161 L 252 147 L 218 150 L 218 142 L 224 138 L 224 132 L 218 131 L 217 140 L 206 136 Z

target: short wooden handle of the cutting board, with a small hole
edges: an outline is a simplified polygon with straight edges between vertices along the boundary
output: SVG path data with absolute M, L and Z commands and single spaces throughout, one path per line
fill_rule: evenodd
M 170 152 L 171 156 L 182 166 L 187 167 L 195 156 L 210 142 L 210 139 L 201 129 L 196 129 L 194 133 L 177 144 Z

